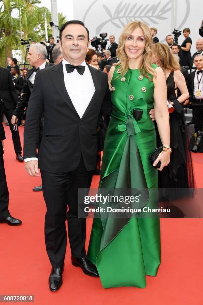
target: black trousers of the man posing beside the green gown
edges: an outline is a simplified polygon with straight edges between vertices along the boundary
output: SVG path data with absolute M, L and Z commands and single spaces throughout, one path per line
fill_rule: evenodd
M 45 215 L 45 243 L 53 267 L 64 264 L 66 253 L 66 218 L 71 254 L 86 255 L 86 219 L 78 218 L 78 189 L 89 188 L 93 172 L 87 171 L 81 158 L 73 172 L 50 173 L 41 170 L 43 195 L 47 207 Z M 67 205 L 69 207 L 67 212 Z

